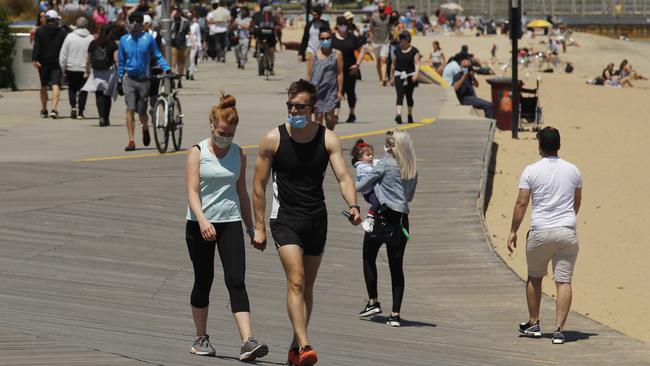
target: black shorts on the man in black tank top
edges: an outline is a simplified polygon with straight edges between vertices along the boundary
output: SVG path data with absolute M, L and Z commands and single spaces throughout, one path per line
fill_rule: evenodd
M 295 244 L 304 255 L 321 256 L 327 240 L 327 215 L 314 220 L 271 219 L 271 235 L 275 247 Z

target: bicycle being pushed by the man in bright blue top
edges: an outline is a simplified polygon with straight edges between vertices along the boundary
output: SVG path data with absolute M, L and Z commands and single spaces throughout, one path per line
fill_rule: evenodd
M 182 76 L 176 74 L 163 74 L 155 76 L 161 79 L 158 89 L 158 98 L 153 109 L 153 137 L 156 147 L 161 154 L 167 151 L 169 135 L 172 136 L 174 150 L 181 149 L 183 139 L 183 112 L 178 99 L 178 90 L 174 90 L 174 80 Z M 166 89 L 166 80 L 169 79 L 169 91 Z

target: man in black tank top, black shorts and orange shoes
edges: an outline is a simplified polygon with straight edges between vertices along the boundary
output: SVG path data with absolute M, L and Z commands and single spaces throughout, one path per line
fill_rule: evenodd
M 266 246 L 266 186 L 272 177 L 271 234 L 287 275 L 288 312 L 294 329 L 289 363 L 313 365 L 318 358 L 309 345 L 307 323 L 327 237 L 323 179 L 328 164 L 332 165 L 349 206 L 350 222 L 359 225 L 361 216 L 341 142 L 334 132 L 310 121 L 316 87 L 300 80 L 291 84 L 288 94 L 287 123 L 264 136 L 255 163 L 253 244 L 258 249 Z

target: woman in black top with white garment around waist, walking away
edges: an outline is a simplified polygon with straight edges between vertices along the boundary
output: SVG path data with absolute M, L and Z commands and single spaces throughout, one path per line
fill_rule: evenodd
M 111 26 L 104 25 L 99 32 L 99 38 L 90 42 L 86 73 L 90 75 L 82 90 L 95 92 L 95 103 L 99 113 L 99 126 L 110 125 L 111 98 L 117 90 L 117 46 L 109 37 Z M 92 72 L 91 72 L 92 68 Z

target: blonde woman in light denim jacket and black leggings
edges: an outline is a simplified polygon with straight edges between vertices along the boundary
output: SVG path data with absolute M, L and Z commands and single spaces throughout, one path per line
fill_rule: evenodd
M 372 232 L 363 238 L 363 275 L 369 301 L 359 312 L 368 317 L 382 312 L 377 294 L 377 253 L 386 243 L 388 266 L 393 288 L 393 309 L 390 326 L 400 326 L 400 308 L 404 296 L 404 252 L 409 239 L 409 202 L 413 200 L 418 174 L 411 136 L 401 129 L 386 133 L 386 157 L 361 181 L 356 189 L 363 192 L 374 185 L 381 206 Z

